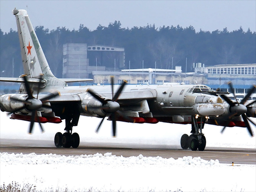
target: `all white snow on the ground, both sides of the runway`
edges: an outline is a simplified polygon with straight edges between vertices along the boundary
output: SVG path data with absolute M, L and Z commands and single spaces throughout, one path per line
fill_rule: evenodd
M 252 119 L 255 120 L 255 119 Z M 112 122 L 104 121 L 100 132 L 94 131 L 100 119 L 80 117 L 78 132 L 81 142 L 95 145 L 125 145 L 139 148 L 180 148 L 180 137 L 190 132 L 190 125 L 131 124 L 117 122 L 117 138 L 111 137 Z M 30 140 L 34 146 L 44 146 L 56 132 L 63 132 L 61 124 L 38 125 L 34 134 L 27 134 L 29 122 L 10 120 L 0 112 L 0 139 Z M 206 125 L 203 132 L 209 147 L 256 148 L 246 128 L 226 128 Z M 255 134 L 255 127 L 252 128 Z M 39 140 L 39 142 L 38 142 Z M 41 141 L 41 142 L 40 142 Z M 26 145 L 20 144 L 20 145 Z M 52 143 L 51 146 L 54 146 Z M 65 149 L 63 149 L 65 150 Z M 256 165 L 220 164 L 192 157 L 177 160 L 161 157 L 119 157 L 106 154 L 59 156 L 56 154 L 0 154 L 0 185 L 12 181 L 33 184 L 37 190 L 60 189 L 90 191 L 256 191 Z

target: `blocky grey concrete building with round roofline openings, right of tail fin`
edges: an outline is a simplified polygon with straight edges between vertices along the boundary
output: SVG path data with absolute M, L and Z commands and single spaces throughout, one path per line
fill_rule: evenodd
M 92 71 L 124 68 L 122 47 L 68 43 L 63 45 L 63 78 L 92 78 Z

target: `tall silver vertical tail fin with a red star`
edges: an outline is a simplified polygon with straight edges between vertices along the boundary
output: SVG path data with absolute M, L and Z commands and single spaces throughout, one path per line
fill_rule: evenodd
M 66 84 L 52 74 L 27 11 L 15 8 L 12 10 L 12 14 L 16 17 L 24 73 L 28 77 L 38 77 L 44 74 L 48 86 L 62 86 Z

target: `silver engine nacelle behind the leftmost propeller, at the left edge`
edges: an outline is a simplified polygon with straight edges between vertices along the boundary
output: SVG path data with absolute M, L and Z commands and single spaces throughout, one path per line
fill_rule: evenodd
M 26 101 L 28 99 L 27 94 L 5 94 L 0 97 L 1 111 L 12 112 L 25 106 L 24 102 L 11 100 L 10 98 Z M 28 113 L 26 109 L 21 112 Z

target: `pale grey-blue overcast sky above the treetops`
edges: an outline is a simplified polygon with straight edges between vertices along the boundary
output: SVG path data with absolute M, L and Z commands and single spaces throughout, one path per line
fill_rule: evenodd
M 256 31 L 256 0 L 0 0 L 0 28 L 17 30 L 12 9 L 27 9 L 33 26 L 78 30 L 80 24 L 95 30 L 120 21 L 122 28 L 193 26 L 196 32 Z

